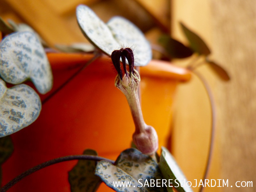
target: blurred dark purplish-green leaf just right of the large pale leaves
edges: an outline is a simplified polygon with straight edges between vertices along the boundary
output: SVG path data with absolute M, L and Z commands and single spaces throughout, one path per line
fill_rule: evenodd
M 186 58 L 193 54 L 193 51 L 189 47 L 168 35 L 160 36 L 158 41 L 162 44 L 171 58 Z

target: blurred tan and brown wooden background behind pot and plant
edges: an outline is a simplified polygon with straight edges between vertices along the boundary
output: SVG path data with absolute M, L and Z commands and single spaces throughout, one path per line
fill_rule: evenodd
M 236 188 L 236 181 L 256 185 L 256 4 L 255 0 L 1 0 L 0 16 L 24 22 L 50 45 L 87 42 L 75 9 L 86 4 L 105 22 L 121 15 L 156 45 L 167 33 L 187 44 L 179 21 L 199 34 L 224 66 L 231 81 L 223 82 L 207 66 L 198 68 L 209 82 L 217 109 L 214 153 L 208 179 L 224 179 L 233 188 L 205 191 L 256 191 Z M 154 59 L 161 59 L 153 52 Z M 189 60 L 172 60 L 185 66 Z M 202 179 L 209 139 L 210 104 L 201 82 L 180 84 L 174 107 L 171 150 L 188 180 Z M 193 183 L 195 185 L 195 183 Z M 196 191 L 196 190 L 195 190 Z

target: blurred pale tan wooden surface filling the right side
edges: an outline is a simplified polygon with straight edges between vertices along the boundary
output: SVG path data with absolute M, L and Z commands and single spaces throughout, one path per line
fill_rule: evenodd
M 214 158 L 208 179 L 229 180 L 229 188 L 205 191 L 255 191 L 256 187 L 235 187 L 236 181 L 256 184 L 255 1 L 173 0 L 172 14 L 173 36 L 184 40 L 177 24 L 182 20 L 200 34 L 212 48 L 211 58 L 227 68 L 232 77 L 225 83 L 207 67 L 198 69 L 212 87 L 217 108 Z M 209 102 L 196 77 L 181 85 L 176 96 L 172 150 L 188 180 L 201 179 L 209 142 Z

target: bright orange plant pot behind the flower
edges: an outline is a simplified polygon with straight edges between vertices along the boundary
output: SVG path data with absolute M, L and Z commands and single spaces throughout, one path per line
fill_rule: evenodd
M 54 85 L 51 92 L 72 76 L 92 54 L 48 53 Z M 166 146 L 172 123 L 176 85 L 190 74 L 168 62 L 152 60 L 140 68 L 141 105 L 145 122 Z M 114 86 L 116 73 L 108 57 L 102 56 L 44 103 L 38 119 L 12 134 L 14 153 L 3 165 L 3 184 L 44 161 L 82 154 L 95 149 L 100 156 L 116 159 L 130 147 L 134 125 L 128 103 Z M 42 101 L 51 94 L 41 95 Z M 68 174 L 76 161 L 44 168 L 17 183 L 10 191 L 68 192 Z M 100 191 L 111 191 L 102 185 Z

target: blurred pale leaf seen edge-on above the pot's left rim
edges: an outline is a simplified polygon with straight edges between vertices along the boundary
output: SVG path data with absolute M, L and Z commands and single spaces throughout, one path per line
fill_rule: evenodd
M 60 45 L 57 44 L 55 47 L 62 52 L 93 52 L 95 47 L 92 44 L 86 43 L 74 43 L 71 45 Z

